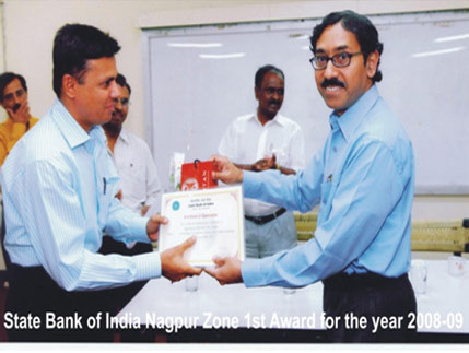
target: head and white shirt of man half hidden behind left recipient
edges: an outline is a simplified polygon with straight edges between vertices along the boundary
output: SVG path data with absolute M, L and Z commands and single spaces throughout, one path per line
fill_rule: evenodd
M 124 205 L 144 215 L 152 204 L 160 202 L 161 183 L 146 142 L 122 128 L 131 89 L 120 73 L 116 82 L 119 95 L 114 98 L 113 117 L 103 128 L 120 177 L 118 198 Z

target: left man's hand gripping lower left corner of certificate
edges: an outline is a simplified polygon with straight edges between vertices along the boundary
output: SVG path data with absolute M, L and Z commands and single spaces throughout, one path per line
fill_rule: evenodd
M 188 238 L 183 244 L 164 250 L 161 254 L 162 273 L 172 282 L 183 280 L 188 275 L 199 275 L 202 269 L 191 267 L 184 260 L 184 252 L 196 243 L 196 237 Z

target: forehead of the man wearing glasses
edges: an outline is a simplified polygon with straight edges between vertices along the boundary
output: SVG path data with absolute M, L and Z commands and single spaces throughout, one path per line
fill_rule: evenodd
M 344 49 L 360 50 L 360 44 L 355 34 L 343 28 L 340 22 L 327 26 L 316 43 L 316 52 Z

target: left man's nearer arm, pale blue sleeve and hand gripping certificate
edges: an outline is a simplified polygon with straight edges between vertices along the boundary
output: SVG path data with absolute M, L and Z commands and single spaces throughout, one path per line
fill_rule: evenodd
M 61 287 L 68 291 L 113 287 L 157 278 L 162 271 L 169 279 L 176 275 L 176 280 L 200 273 L 180 261 L 188 244 L 176 247 L 173 256 L 165 256 L 164 260 L 159 252 L 132 257 L 96 254 L 90 246 L 93 242 L 98 245 L 102 235 L 87 226 L 90 221 L 84 219 L 72 185 L 73 175 L 68 167 L 39 162 L 26 169 L 13 184 L 13 190 L 9 190 L 39 263 Z M 154 223 L 159 222 L 152 221 L 150 233 L 155 233 Z M 142 219 L 142 225 L 145 234 L 146 219 Z

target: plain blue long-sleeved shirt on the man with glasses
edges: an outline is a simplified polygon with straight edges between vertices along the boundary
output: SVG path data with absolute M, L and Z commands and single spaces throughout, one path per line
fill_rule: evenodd
M 304 286 L 338 272 L 388 278 L 410 267 L 414 161 L 400 121 L 373 85 L 342 116 L 305 170 L 244 173 L 244 192 L 290 210 L 319 203 L 315 237 L 242 266 L 246 286 Z

